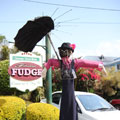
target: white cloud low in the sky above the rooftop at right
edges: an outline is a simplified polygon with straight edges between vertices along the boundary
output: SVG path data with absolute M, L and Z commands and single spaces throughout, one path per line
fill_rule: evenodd
M 120 40 L 101 42 L 96 48 L 76 49 L 74 52 L 74 57 L 100 55 L 120 57 Z

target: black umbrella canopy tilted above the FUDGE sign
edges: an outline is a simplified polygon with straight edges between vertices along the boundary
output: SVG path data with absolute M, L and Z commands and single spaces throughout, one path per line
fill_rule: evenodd
M 24 52 L 31 52 L 35 45 L 52 29 L 54 22 L 51 17 L 44 16 L 28 21 L 17 33 L 15 46 Z

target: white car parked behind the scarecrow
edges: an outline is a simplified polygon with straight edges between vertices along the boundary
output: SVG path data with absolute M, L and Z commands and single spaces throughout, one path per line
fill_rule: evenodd
M 52 94 L 52 104 L 60 109 L 61 91 Z M 88 92 L 75 91 L 78 120 L 120 120 L 120 111 L 102 97 Z M 41 102 L 45 102 L 43 99 Z

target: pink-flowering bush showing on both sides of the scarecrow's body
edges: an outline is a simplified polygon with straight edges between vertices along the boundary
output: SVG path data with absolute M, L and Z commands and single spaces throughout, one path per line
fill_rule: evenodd
M 53 91 L 62 90 L 60 70 L 52 70 Z M 80 68 L 76 74 L 75 90 L 94 92 L 96 83 L 100 82 L 101 69 Z

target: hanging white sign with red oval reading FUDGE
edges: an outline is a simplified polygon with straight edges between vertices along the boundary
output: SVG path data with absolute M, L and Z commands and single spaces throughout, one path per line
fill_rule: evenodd
M 10 87 L 32 91 L 42 86 L 42 60 L 32 53 L 19 52 L 10 55 Z

